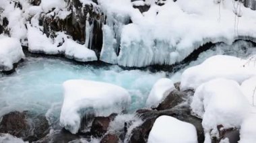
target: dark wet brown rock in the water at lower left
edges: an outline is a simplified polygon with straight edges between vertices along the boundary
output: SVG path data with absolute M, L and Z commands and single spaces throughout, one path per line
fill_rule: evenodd
M 49 133 L 49 124 L 44 115 L 34 115 L 28 111 L 13 111 L 3 115 L 0 132 L 32 142 Z

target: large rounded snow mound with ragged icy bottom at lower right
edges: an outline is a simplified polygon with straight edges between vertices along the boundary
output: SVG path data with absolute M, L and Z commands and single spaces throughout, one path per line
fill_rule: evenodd
M 210 132 L 218 136 L 218 125 L 239 128 L 250 111 L 250 105 L 238 83 L 228 79 L 214 79 L 195 90 L 191 109 L 203 119 L 205 137 L 210 137 Z

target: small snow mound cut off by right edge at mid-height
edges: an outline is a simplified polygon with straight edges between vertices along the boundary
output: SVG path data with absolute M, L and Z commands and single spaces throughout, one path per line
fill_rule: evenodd
M 256 77 L 251 77 L 250 79 L 244 81 L 241 88 L 250 104 L 256 105 Z

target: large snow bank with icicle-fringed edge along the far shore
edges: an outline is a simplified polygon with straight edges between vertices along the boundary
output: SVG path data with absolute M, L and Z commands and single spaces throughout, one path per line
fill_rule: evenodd
M 236 17 L 238 25 L 234 27 L 232 1 L 218 4 L 204 0 L 169 0 L 162 6 L 151 1 L 149 11 L 144 13 L 132 7 L 142 5 L 143 1 L 134 1 L 132 5 L 129 1 L 122 3 L 100 2 L 103 11 L 106 9 L 106 25 L 117 35 L 117 46 L 110 43 L 106 47 L 113 47 L 115 51 L 120 43 L 120 53 L 117 59 L 113 58 L 122 66 L 174 64 L 207 42 L 232 44 L 237 38 L 255 38 L 256 14 L 241 5 L 243 16 Z M 131 19 L 132 23 L 127 23 L 126 19 Z M 118 28 L 113 28 L 113 23 Z M 108 50 L 108 55 L 115 53 Z M 104 61 L 113 63 L 113 58 L 108 61 L 104 58 Z

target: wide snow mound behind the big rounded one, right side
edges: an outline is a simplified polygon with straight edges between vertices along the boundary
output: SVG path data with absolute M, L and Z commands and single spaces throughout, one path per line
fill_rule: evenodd
M 188 68 L 181 75 L 181 89 L 196 89 L 202 83 L 216 78 L 232 79 L 242 83 L 256 75 L 256 66 L 234 56 L 217 55 Z

